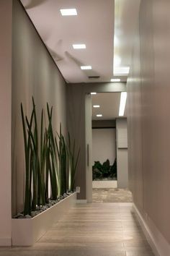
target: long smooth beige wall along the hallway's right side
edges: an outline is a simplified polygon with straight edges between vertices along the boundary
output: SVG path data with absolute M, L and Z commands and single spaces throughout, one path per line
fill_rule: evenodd
M 141 0 L 128 80 L 130 188 L 170 242 L 170 2 Z

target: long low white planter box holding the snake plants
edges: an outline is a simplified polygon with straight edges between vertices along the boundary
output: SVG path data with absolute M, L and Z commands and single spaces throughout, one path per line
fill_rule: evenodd
M 76 192 L 33 218 L 12 218 L 12 245 L 31 246 L 76 204 Z

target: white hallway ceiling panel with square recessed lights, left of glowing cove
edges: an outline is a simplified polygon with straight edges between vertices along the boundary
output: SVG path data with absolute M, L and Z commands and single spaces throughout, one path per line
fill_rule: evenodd
M 114 0 L 21 1 L 67 82 L 110 82 Z M 76 8 L 78 15 L 63 17 L 60 9 L 65 8 Z M 73 43 L 85 43 L 86 49 L 75 50 Z M 81 70 L 84 65 L 92 69 Z

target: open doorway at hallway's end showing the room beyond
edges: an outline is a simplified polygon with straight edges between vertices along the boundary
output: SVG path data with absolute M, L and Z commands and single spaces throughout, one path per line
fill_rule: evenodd
M 127 132 L 126 112 L 123 117 L 119 116 L 120 95 L 121 93 L 91 95 L 90 179 L 93 202 L 131 202 L 131 193 L 127 189 L 128 145 L 121 149 L 117 145 L 118 134 L 120 137 L 124 131 L 122 137 L 125 140 L 125 128 Z M 118 173 L 117 154 L 118 167 L 121 168 Z

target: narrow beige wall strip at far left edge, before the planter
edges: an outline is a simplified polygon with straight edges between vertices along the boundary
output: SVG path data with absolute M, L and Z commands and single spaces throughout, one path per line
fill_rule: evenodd
M 12 1 L 0 1 L 0 245 L 11 244 Z

